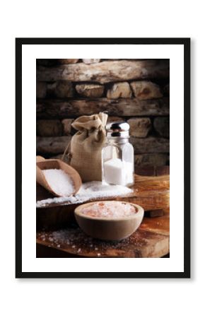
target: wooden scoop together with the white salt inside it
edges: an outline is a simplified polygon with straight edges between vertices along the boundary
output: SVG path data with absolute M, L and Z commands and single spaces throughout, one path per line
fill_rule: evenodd
M 71 196 L 78 192 L 82 181 L 78 172 L 58 159 L 36 163 L 36 181 L 54 196 Z

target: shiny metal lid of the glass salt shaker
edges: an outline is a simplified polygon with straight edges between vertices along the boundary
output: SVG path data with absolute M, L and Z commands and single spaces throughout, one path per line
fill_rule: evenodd
M 127 122 L 110 122 L 106 125 L 107 138 L 129 138 Z

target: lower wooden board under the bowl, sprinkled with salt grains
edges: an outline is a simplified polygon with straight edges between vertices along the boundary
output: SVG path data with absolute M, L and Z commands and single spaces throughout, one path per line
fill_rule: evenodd
M 163 257 L 170 251 L 169 215 L 144 218 L 139 230 L 121 242 L 95 240 L 73 226 L 37 232 L 37 257 Z

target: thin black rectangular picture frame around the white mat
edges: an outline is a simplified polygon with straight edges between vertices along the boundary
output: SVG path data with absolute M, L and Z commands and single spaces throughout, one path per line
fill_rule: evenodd
M 190 38 L 16 38 L 16 278 L 190 278 Z M 184 45 L 184 271 L 22 271 L 22 45 Z

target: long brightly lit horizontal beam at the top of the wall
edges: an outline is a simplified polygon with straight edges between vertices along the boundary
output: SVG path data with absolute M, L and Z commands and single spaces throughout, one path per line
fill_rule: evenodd
M 54 67 L 37 66 L 37 81 L 93 81 L 109 83 L 150 78 L 169 78 L 168 59 L 144 61 L 102 61 L 95 64 L 64 64 Z

